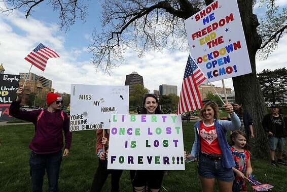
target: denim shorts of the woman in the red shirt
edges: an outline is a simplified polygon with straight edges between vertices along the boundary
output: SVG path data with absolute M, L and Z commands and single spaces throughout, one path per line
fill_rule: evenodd
M 198 174 L 206 179 L 217 178 L 226 182 L 232 182 L 234 180 L 232 168 L 224 168 L 222 166 L 222 159 L 212 160 L 200 153 L 198 159 Z

